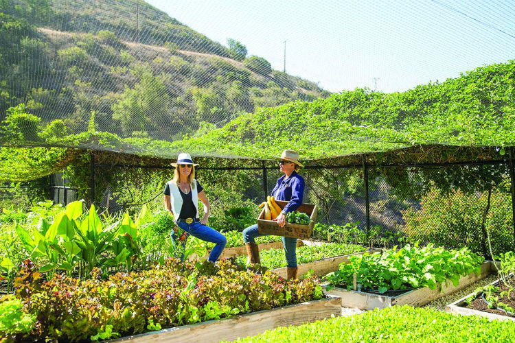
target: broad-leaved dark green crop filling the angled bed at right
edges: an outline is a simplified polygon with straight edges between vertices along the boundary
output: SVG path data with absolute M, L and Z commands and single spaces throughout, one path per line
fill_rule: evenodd
M 341 263 L 339 270 L 328 274 L 329 287 L 343 286 L 351 289 L 354 274 L 362 287 L 378 289 L 380 293 L 389 289 L 430 287 L 450 279 L 458 285 L 460 276 L 471 272 L 479 273 L 484 258 L 470 252 L 468 248 L 446 250 L 428 244 L 424 248 L 407 245 L 397 250 L 385 250 L 352 256 L 349 263 Z

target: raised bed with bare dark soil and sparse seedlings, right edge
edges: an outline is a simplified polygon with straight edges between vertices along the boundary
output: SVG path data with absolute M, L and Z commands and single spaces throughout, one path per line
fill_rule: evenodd
M 492 292 L 494 296 L 499 296 L 501 292 L 508 290 L 507 287 L 505 287 L 505 285 L 501 283 L 501 280 L 496 280 L 484 288 L 491 289 L 492 287 L 496 287 L 496 289 L 499 289 Z M 509 298 L 507 298 L 507 295 L 499 297 L 500 300 L 503 301 L 503 303 L 512 307 L 512 309 L 515 308 L 515 294 L 513 293 L 513 291 L 510 293 Z M 509 312 L 506 312 L 503 309 L 500 309 L 497 305 L 494 305 L 494 308 L 489 308 L 487 300 L 488 299 L 483 297 L 483 292 L 473 292 L 471 294 L 468 294 L 464 298 L 456 300 L 454 303 L 450 303 L 446 306 L 445 309 L 450 313 L 463 314 L 465 316 L 474 315 L 490 319 L 515 321 L 515 316 L 513 316 Z

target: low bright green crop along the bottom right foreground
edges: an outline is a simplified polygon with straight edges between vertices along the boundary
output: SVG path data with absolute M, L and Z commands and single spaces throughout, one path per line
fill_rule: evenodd
M 279 327 L 236 342 L 461 343 L 513 342 L 515 323 L 456 316 L 434 309 L 389 307 L 300 327 Z

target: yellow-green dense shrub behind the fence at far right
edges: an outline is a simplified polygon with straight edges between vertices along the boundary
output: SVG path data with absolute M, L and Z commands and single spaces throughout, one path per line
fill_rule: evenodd
M 462 247 L 482 252 L 481 222 L 488 193 L 467 194 L 459 190 L 444 194 L 431 189 L 420 202 L 420 210 L 402 211 L 404 233 L 415 240 L 440 246 Z M 485 228 L 490 234 L 494 255 L 513 250 L 512 198 L 509 193 L 492 192 Z M 487 243 L 488 249 L 488 243 Z

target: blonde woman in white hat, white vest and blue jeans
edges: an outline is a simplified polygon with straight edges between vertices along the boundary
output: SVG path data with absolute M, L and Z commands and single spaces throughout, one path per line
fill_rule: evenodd
M 180 227 L 184 230 L 184 234 L 179 237 L 183 241 L 183 246 L 187 235 L 216 244 L 207 259 L 216 262 L 227 244 L 227 239 L 214 228 L 207 226 L 209 200 L 205 196 L 203 187 L 195 179 L 195 166 L 198 164 L 193 163 L 190 154 L 183 152 L 172 165 L 175 167 L 174 178 L 166 184 L 164 191 L 165 209 L 174 217 L 176 224 L 172 236 Z M 204 205 L 202 219 L 198 217 L 198 200 L 201 200 Z M 183 258 L 184 256 L 181 257 Z

